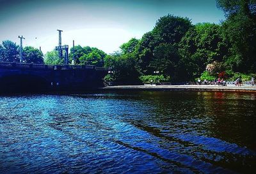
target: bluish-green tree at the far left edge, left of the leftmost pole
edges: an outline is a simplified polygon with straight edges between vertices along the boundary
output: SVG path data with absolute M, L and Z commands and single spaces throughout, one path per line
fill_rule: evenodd
M 3 41 L 0 45 L 0 61 L 20 62 L 19 46 L 10 40 Z

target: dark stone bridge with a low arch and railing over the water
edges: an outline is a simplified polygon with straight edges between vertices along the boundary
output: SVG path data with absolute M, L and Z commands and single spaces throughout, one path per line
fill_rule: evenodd
M 108 71 L 84 65 L 0 62 L 0 93 L 97 89 L 103 86 L 102 78 Z

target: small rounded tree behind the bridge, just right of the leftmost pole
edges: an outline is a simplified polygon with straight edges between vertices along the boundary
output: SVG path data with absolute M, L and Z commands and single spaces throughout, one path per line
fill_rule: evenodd
M 43 53 L 34 47 L 24 47 L 24 62 L 34 64 L 44 64 Z

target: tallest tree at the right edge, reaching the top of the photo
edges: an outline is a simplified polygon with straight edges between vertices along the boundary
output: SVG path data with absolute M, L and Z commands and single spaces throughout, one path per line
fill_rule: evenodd
M 225 40 L 230 43 L 230 55 L 225 64 L 232 71 L 256 72 L 256 0 L 218 0 L 227 20 L 222 24 Z

